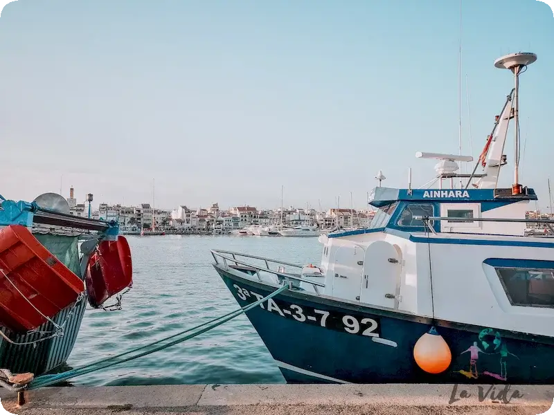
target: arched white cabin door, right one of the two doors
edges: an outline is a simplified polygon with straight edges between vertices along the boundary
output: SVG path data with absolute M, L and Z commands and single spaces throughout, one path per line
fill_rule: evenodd
M 360 302 L 397 308 L 402 275 L 402 251 L 391 243 L 375 241 L 366 249 Z

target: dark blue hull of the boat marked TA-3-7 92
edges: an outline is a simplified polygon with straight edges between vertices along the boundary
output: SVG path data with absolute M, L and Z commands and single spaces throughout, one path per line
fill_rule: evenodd
M 215 266 L 240 306 L 275 290 Z M 236 272 L 236 271 L 235 271 Z M 327 297 L 285 291 L 247 312 L 290 383 L 554 383 L 554 341 L 536 335 L 431 320 Z M 413 347 L 431 326 L 447 342 L 452 363 L 429 374 Z M 477 360 L 468 349 L 481 349 Z

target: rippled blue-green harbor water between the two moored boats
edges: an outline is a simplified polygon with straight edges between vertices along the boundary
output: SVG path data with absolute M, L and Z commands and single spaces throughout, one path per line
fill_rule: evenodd
M 319 263 L 317 238 L 128 236 L 134 285 L 123 310 L 87 310 L 68 364 L 77 367 L 185 330 L 238 308 L 211 249 L 296 264 Z M 111 300 L 108 300 L 111 304 Z M 168 349 L 75 378 L 75 385 L 285 382 L 248 318 L 240 315 Z

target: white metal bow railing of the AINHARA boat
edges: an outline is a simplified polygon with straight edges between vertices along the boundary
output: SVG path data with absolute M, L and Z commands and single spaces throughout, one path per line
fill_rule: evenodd
M 213 259 L 215 260 L 216 264 L 220 264 L 220 261 L 217 259 L 217 257 L 220 257 L 222 259 L 222 263 L 224 264 L 226 269 L 229 269 L 229 264 L 227 261 L 234 262 L 236 266 L 242 265 L 247 266 L 249 268 L 252 268 L 256 271 L 256 275 L 258 277 L 258 281 L 262 281 L 262 277 L 260 276 L 260 272 L 262 273 L 270 273 L 273 275 L 276 275 L 280 281 L 286 281 L 286 282 L 293 282 L 298 286 L 298 283 L 305 282 L 306 284 L 310 284 L 314 287 L 314 291 L 317 295 L 319 295 L 319 289 L 318 287 L 325 287 L 325 284 L 321 282 L 315 282 L 310 281 L 309 279 L 305 279 L 302 277 L 299 277 L 297 275 L 291 274 L 291 273 L 285 273 L 283 266 L 292 266 L 293 268 L 300 268 L 302 270 L 304 266 L 298 265 L 298 264 L 292 264 L 290 262 L 285 261 L 278 261 L 276 259 L 269 259 L 266 257 L 258 257 L 256 255 L 249 255 L 249 254 L 242 254 L 240 252 L 233 252 L 233 251 L 227 251 L 227 250 L 211 250 L 211 254 L 213 256 Z M 237 258 L 239 257 L 239 259 Z M 246 260 L 242 260 L 240 258 L 247 258 L 247 259 L 258 259 L 260 261 L 264 261 L 265 268 L 263 266 L 258 266 L 256 264 L 252 264 L 251 262 L 247 262 Z M 272 270 L 269 267 L 269 264 L 276 264 L 278 266 L 278 270 Z

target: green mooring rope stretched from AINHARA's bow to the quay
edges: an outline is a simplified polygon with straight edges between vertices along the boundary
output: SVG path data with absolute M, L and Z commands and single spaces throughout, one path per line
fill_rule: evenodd
M 274 297 L 275 295 L 278 295 L 279 293 L 282 293 L 287 288 L 288 288 L 288 286 L 282 286 L 282 287 L 278 288 L 276 291 L 274 291 L 273 293 L 267 295 L 266 297 L 264 297 L 262 299 L 259 299 L 256 302 L 253 302 L 252 304 L 249 304 L 248 306 L 244 306 L 242 308 L 239 308 L 238 310 L 235 310 L 231 313 L 228 313 L 228 314 L 226 314 L 222 317 L 218 317 L 216 319 L 213 319 L 210 322 L 207 322 L 207 323 L 204 323 L 204 324 L 199 324 L 198 326 L 195 326 L 192 329 L 187 329 L 187 330 L 185 330 L 181 333 L 171 335 L 168 338 L 163 338 L 161 340 L 157 340 L 156 342 L 152 342 L 150 344 L 145 344 L 144 346 L 138 347 L 138 348 L 133 349 L 131 351 L 127 351 L 125 353 L 120 353 L 118 356 L 112 356 L 110 358 L 102 359 L 99 362 L 94 362 L 94 363 L 91 363 L 90 365 L 85 365 L 84 367 L 80 367 L 78 369 L 73 369 L 71 371 L 67 371 L 67 372 L 64 372 L 62 374 L 39 376 L 38 378 L 33 380 L 33 382 L 30 383 L 29 389 L 37 389 L 39 387 L 54 385 L 55 383 L 62 382 L 64 380 L 68 380 L 68 379 L 71 379 L 71 378 L 75 378 L 77 376 L 82 376 L 82 375 L 85 375 L 85 374 L 89 374 L 93 371 L 98 371 L 100 369 L 105 369 L 107 367 L 111 367 L 111 366 L 114 366 L 114 365 L 119 365 L 120 363 L 129 362 L 130 360 L 134 360 L 134 359 L 140 358 L 142 356 L 147 356 L 150 353 L 154 353 L 156 351 L 160 351 L 160 350 L 166 349 L 168 347 L 174 346 L 175 344 L 179 344 L 181 342 L 184 342 L 185 340 L 189 340 L 191 338 L 194 338 L 197 335 L 200 335 L 202 333 L 206 333 L 206 331 L 214 329 L 215 327 L 220 326 L 221 324 L 224 324 L 225 322 L 228 322 L 229 320 L 232 320 L 233 318 L 237 317 L 238 315 L 241 315 L 242 313 L 246 313 L 247 311 L 251 310 L 252 308 L 260 305 L 262 302 L 266 301 L 267 299 L 269 299 L 271 297 Z M 148 350 L 148 351 L 143 351 L 142 353 L 139 353 L 136 356 L 130 356 L 129 358 L 114 361 L 116 358 L 126 356 L 126 355 L 129 355 L 130 353 L 134 353 L 136 351 L 146 349 L 148 347 L 153 346 L 154 344 L 159 344 L 161 342 L 165 342 L 167 340 L 170 340 L 171 338 L 176 338 L 180 335 L 183 335 L 184 333 L 189 333 L 190 331 L 198 329 L 202 326 L 204 326 L 203 329 L 201 329 L 201 330 L 199 330 L 195 333 L 188 334 L 184 338 L 179 338 L 177 340 L 173 340 L 172 342 L 169 342 L 168 344 L 163 344 L 159 347 L 155 347 L 154 349 L 151 349 L 151 350 Z

